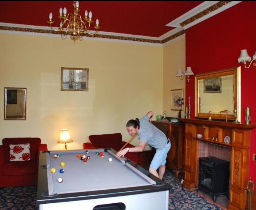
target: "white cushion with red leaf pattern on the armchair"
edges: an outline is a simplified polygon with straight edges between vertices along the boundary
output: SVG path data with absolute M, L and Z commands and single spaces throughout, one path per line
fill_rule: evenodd
M 28 161 L 30 160 L 29 143 L 12 145 L 10 144 L 10 161 Z

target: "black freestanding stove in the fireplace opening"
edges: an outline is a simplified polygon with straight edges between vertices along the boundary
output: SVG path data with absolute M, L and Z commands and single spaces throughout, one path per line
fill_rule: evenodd
M 227 195 L 229 191 L 230 162 L 215 157 L 199 158 L 198 190 L 213 196 L 213 202 L 219 195 Z

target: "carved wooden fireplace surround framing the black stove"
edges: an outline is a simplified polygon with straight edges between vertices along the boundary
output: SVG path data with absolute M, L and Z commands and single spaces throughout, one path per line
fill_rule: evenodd
M 196 188 L 198 178 L 198 141 L 231 148 L 230 195 L 228 209 L 245 209 L 245 189 L 249 176 L 250 131 L 256 124 L 180 119 L 185 123 L 184 182 L 187 189 Z M 197 134 L 202 137 L 198 138 Z M 228 136 L 230 142 L 224 140 Z M 227 139 L 227 138 L 226 138 Z

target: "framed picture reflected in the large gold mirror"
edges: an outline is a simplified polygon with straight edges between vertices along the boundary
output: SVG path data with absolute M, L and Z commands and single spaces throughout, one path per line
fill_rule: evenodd
M 211 77 L 203 80 L 204 93 L 221 93 L 221 77 Z

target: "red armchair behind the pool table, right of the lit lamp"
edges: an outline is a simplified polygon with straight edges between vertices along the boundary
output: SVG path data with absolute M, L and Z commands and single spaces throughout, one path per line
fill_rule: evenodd
M 83 143 L 84 149 L 113 148 L 118 152 L 127 143 L 126 141 L 122 141 L 121 133 L 90 135 L 89 140 L 90 142 Z M 134 146 L 127 144 L 124 148 L 126 147 Z M 128 152 L 125 156 L 133 162 L 138 163 L 138 153 Z

